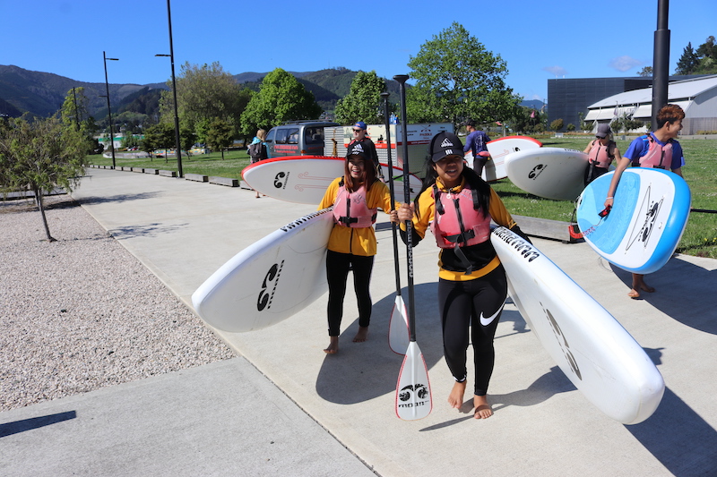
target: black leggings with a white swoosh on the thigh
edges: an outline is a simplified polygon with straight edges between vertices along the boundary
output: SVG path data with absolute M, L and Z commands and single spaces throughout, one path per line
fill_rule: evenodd
M 476 396 L 488 393 L 488 382 L 496 358 L 493 337 L 496 336 L 507 292 L 508 284 L 502 265 L 475 280 L 438 280 L 438 309 L 443 325 L 445 362 L 456 381 L 466 379 L 468 328 L 471 327 Z M 494 319 L 489 320 L 491 317 Z

